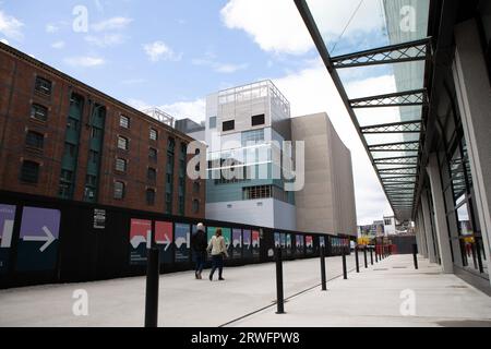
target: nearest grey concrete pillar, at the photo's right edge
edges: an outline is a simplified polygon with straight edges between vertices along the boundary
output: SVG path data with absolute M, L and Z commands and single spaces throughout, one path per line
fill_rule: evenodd
M 491 269 L 491 86 L 474 20 L 455 27 L 453 67 L 464 135 L 469 152 L 479 221 Z

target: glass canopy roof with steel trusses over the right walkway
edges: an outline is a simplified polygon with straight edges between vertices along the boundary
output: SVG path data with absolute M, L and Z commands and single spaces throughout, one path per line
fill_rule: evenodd
M 396 218 L 410 219 L 428 112 L 430 0 L 295 2 Z

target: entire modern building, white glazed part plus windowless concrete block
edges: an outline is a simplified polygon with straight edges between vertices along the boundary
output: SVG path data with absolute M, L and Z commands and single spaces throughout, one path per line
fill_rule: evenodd
M 291 119 L 288 100 L 263 81 L 209 95 L 205 134 L 207 218 L 356 236 L 351 156 L 325 112 Z M 304 145 L 304 173 L 291 168 L 302 177 L 299 191 L 285 186 L 294 173 L 286 161 L 298 159 L 285 157 L 284 141 Z

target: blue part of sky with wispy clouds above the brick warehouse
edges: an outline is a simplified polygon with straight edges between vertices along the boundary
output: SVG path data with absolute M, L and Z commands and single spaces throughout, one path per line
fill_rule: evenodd
M 1 10 L 23 23 L 22 39 L 7 38 L 12 46 L 123 101 L 159 106 L 298 68 L 297 60 L 265 52 L 247 33 L 228 29 L 220 20 L 226 3 L 7 0 Z M 87 33 L 72 28 L 76 5 L 87 9 Z M 172 55 L 152 61 L 144 45 L 153 43 Z M 302 59 L 314 57 L 311 51 Z M 92 58 L 94 65 L 76 58 Z

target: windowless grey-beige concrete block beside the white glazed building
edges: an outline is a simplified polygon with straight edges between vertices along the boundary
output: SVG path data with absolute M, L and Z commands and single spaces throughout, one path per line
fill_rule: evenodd
M 291 133 L 306 142 L 306 184 L 295 193 L 297 229 L 356 236 L 351 155 L 327 115 L 291 119 Z

